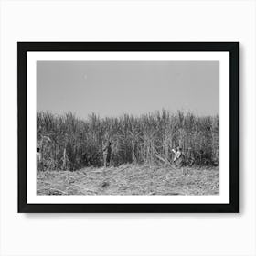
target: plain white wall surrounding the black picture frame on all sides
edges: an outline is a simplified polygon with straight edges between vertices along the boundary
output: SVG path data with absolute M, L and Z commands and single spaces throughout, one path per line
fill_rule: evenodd
M 0 1 L 1 255 L 256 255 L 256 1 Z M 17 214 L 16 41 L 240 41 L 240 214 Z

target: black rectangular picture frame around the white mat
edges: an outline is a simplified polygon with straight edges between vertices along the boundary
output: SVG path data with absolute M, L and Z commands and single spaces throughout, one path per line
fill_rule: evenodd
M 29 51 L 227 51 L 229 52 L 229 204 L 28 204 L 27 52 Z M 238 42 L 17 42 L 19 213 L 238 213 Z

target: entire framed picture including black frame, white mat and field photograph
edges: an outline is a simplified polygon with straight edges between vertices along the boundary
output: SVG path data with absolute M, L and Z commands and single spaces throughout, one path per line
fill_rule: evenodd
M 21 205 L 237 210 L 237 151 L 229 149 L 238 143 L 236 112 L 229 114 L 229 103 L 237 107 L 236 43 L 19 48 L 20 88 L 27 87 L 19 91 Z

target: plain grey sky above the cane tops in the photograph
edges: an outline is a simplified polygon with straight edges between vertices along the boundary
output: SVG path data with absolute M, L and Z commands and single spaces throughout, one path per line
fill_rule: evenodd
M 219 114 L 219 61 L 37 61 L 37 111 Z

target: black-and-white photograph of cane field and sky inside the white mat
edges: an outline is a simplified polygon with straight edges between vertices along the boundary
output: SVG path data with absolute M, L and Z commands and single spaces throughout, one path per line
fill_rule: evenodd
M 219 61 L 37 61 L 37 195 L 219 195 Z

